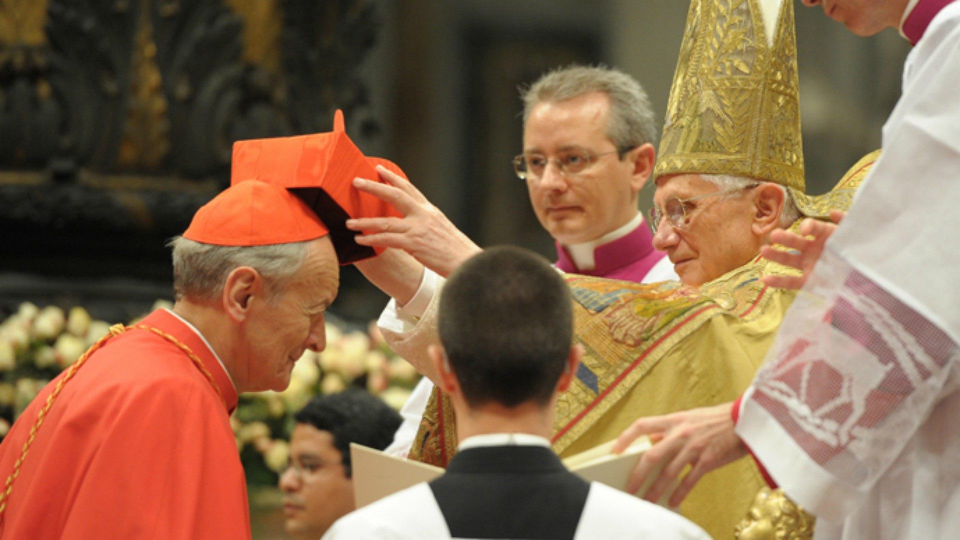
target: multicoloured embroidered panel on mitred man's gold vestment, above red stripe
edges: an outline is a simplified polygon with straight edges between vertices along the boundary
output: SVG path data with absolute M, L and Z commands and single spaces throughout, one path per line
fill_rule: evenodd
M 585 354 L 577 379 L 555 409 L 554 451 L 564 452 L 662 357 L 711 318 L 749 320 L 762 313 L 770 295 L 763 293 L 760 276 L 787 271 L 758 259 L 699 289 L 677 282 L 643 285 L 569 276 L 574 333 Z

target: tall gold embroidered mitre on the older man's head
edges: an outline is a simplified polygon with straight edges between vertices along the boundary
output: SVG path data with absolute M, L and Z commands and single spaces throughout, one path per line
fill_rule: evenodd
M 790 189 L 804 215 L 823 213 L 804 195 L 794 26 L 790 1 L 691 1 L 656 177 L 774 182 Z

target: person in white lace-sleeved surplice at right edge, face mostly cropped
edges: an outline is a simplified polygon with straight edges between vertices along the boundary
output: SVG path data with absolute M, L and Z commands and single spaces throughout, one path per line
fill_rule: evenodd
M 823 5 L 854 34 L 896 27 L 915 45 L 882 155 L 835 232 L 791 241 L 806 282 L 744 397 L 641 419 L 618 444 L 664 434 L 632 480 L 669 462 L 649 497 L 686 464 L 695 480 L 749 448 L 816 515 L 815 538 L 956 538 L 960 2 Z

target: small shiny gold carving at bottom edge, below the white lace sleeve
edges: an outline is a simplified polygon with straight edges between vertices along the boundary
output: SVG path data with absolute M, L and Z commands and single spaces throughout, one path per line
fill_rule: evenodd
M 736 526 L 737 540 L 809 540 L 816 519 L 782 490 L 764 487 L 756 494 L 747 517 Z

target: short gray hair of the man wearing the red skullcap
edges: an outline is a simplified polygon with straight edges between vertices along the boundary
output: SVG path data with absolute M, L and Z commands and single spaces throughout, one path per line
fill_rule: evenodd
M 271 295 L 300 270 L 307 242 L 267 246 L 215 246 L 177 236 L 167 244 L 173 248 L 174 297 L 177 300 L 216 301 L 234 269 L 250 266 L 272 286 Z M 278 286 L 277 286 L 278 285 Z

